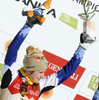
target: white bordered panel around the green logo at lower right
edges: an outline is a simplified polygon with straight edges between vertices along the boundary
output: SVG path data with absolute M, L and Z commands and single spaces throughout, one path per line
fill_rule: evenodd
M 98 74 L 91 71 L 87 75 L 79 91 L 92 98 L 97 87 L 98 87 Z

